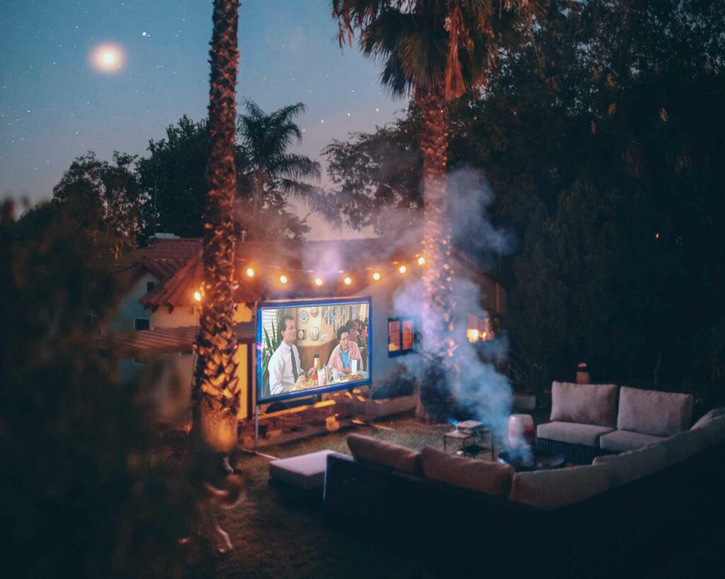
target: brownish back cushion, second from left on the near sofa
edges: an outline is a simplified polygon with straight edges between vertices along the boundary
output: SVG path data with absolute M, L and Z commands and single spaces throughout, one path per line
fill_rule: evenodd
M 426 478 L 471 491 L 508 496 L 511 489 L 513 468 L 510 465 L 449 455 L 428 447 L 421 452 L 421 465 Z

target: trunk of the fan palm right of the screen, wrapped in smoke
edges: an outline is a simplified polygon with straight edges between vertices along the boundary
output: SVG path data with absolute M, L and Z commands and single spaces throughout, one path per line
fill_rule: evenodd
M 442 90 L 418 90 L 415 100 L 423 113 L 423 353 L 428 361 L 421 390 L 423 415 L 448 418 L 455 351 L 453 337 L 451 224 L 448 217 L 448 130 Z

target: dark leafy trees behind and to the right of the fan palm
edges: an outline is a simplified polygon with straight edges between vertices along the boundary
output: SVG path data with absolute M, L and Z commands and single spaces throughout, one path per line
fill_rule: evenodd
M 518 240 L 493 272 L 514 352 L 549 378 L 584 360 L 602 379 L 711 382 L 714 346 L 707 363 L 698 349 L 725 334 L 724 17 L 722 3 L 552 1 L 486 89 L 448 105 L 450 170 L 484 170 L 494 222 Z M 326 148 L 342 219 L 418 208 L 420 130 L 411 106 Z

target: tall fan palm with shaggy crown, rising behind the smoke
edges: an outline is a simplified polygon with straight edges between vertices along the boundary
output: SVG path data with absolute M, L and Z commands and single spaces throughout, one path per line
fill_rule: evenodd
M 452 329 L 451 224 L 447 219 L 446 103 L 485 83 L 502 46 L 518 38 L 539 0 L 333 0 L 340 43 L 355 33 L 363 54 L 383 65 L 393 96 L 413 95 L 423 115 L 423 348 L 430 369 L 428 412 L 456 349 Z M 432 371 L 432 373 L 431 373 Z M 426 398 L 431 402 L 426 402 Z M 445 409 L 441 409 L 442 412 Z

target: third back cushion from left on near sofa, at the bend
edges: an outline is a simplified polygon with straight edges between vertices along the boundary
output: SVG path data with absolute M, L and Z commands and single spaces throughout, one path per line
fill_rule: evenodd
M 509 500 L 548 510 L 588 499 L 612 486 L 609 465 L 586 465 L 516 473 Z

